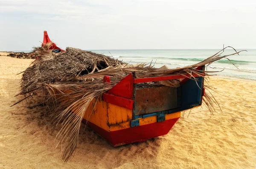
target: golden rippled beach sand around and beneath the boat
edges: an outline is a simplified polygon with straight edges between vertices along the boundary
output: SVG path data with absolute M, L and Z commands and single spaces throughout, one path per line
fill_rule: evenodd
M 1 54 L 3 55 L 3 54 Z M 0 169 L 49 168 L 230 168 L 256 167 L 256 82 L 211 77 L 220 109 L 185 112 L 164 136 L 112 147 L 92 130 L 81 129 L 71 161 L 61 161 L 43 107 L 29 109 L 21 97 L 20 75 L 31 59 L 0 56 Z M 32 100 L 29 100 L 32 101 Z M 187 117 L 189 114 L 189 117 Z M 83 126 L 84 127 L 84 126 Z

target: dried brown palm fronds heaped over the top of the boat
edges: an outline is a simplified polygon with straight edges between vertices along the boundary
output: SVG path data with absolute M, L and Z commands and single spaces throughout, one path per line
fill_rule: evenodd
M 20 101 L 38 94 L 44 96 L 44 103 L 49 108 L 49 116 L 52 119 L 52 128 L 61 124 L 61 130 L 57 134 L 58 144 L 64 145 L 64 161 L 68 161 L 76 149 L 79 137 L 79 129 L 85 111 L 94 107 L 101 98 L 102 93 L 110 90 L 129 73 L 134 72 L 137 78 L 151 76 L 183 75 L 197 80 L 192 74 L 209 76 L 209 71 L 196 70 L 198 66 L 210 65 L 219 59 L 239 54 L 235 53 L 221 56 L 224 49 L 208 57 L 195 65 L 183 68 L 154 68 L 151 64 L 140 63 L 129 65 L 128 63 L 113 59 L 103 54 L 83 51 L 77 48 L 66 49 L 66 52 L 55 54 L 45 47 L 35 48 L 37 59 L 23 72 L 21 79 Z M 103 83 L 104 76 L 110 76 L 111 82 Z M 154 82 L 139 84 L 140 86 L 155 85 Z M 17 103 L 19 103 L 18 101 Z M 210 112 L 214 111 L 215 99 L 209 95 L 204 98 Z M 15 104 L 17 104 L 15 103 Z M 93 103 L 93 104 L 91 104 Z M 90 117 L 88 117 L 90 118 Z

